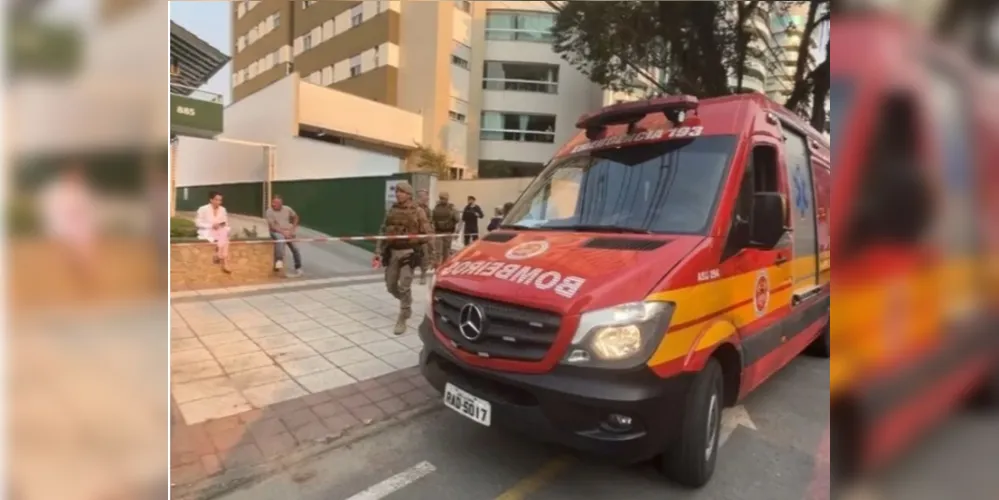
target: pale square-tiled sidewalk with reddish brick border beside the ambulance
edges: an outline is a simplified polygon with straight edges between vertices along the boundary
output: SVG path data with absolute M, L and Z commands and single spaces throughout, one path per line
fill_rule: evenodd
M 185 297 L 172 310 L 176 486 L 229 481 L 437 400 L 417 368 L 428 297 L 415 280 L 400 337 L 380 273 Z

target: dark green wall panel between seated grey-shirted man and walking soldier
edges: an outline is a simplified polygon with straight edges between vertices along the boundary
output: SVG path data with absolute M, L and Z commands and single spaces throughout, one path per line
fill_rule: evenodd
M 330 236 L 378 234 L 385 217 L 385 181 L 389 177 L 351 177 L 281 181 L 273 185 L 302 225 Z M 352 242 L 374 250 L 374 242 Z

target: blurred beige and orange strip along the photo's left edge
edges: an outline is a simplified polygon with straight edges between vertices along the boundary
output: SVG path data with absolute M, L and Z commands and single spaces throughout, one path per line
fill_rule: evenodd
M 142 4 L 100 26 L 93 1 L 7 6 L 15 498 L 168 495 L 166 259 L 151 233 L 167 206 L 149 196 L 168 184 L 167 4 Z

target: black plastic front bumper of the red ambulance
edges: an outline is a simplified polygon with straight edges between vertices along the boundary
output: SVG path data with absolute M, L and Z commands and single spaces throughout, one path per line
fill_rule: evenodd
M 487 401 L 491 426 L 619 463 L 653 458 L 679 433 L 690 376 L 662 379 L 645 367 L 500 372 L 472 367 L 452 355 L 429 321 L 420 325 L 419 334 L 423 376 L 442 394 L 451 384 Z

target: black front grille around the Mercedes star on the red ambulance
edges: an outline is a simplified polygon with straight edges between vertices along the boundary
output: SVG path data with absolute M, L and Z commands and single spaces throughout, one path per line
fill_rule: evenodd
M 541 361 L 558 336 L 558 314 L 482 299 L 438 288 L 434 291 L 434 323 L 457 348 L 484 358 Z M 471 341 L 458 329 L 461 309 L 474 304 L 485 316 L 482 336 Z

